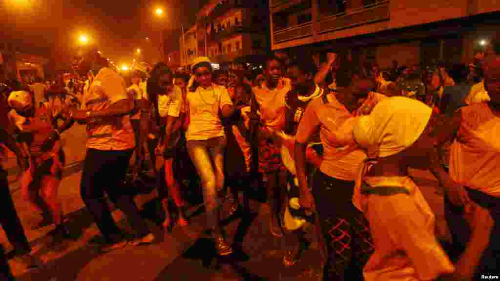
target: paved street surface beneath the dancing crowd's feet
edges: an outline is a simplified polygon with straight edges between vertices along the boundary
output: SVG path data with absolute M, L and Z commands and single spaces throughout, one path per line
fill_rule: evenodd
M 18 260 L 9 261 L 18 280 L 317 280 L 320 260 L 313 230 L 308 230 L 307 237 L 311 245 L 302 259 L 295 266 L 285 268 L 282 265 L 283 242 L 268 231 L 268 206 L 256 200 L 251 201 L 251 215 L 227 221 L 228 240 L 242 244 L 242 247 L 231 258 L 221 260 L 219 266 L 213 264 L 214 259 L 207 258 L 210 256 L 208 253 L 213 253 L 213 245 L 204 233 L 205 217 L 199 200 L 191 200 L 188 211 L 190 225 L 177 226 L 172 233 L 167 234 L 158 226 L 160 219 L 156 215 L 154 191 L 138 195 L 136 201 L 142 209 L 142 216 L 157 236 L 156 243 L 98 253 L 93 243 L 90 243 L 97 235 L 97 228 L 83 209 L 79 197 L 79 163 L 84 157 L 84 143 L 83 140 L 74 139 L 84 139 L 83 134 L 83 127 L 77 126 L 63 135 L 63 139 L 71 139 L 64 140 L 69 159 L 67 162 L 75 163 L 66 169 L 59 188 L 72 239 L 54 243 L 47 235 L 53 226 L 31 229 L 33 214 L 23 202 L 17 186 L 11 186 L 21 222 L 36 249 L 35 255 L 45 261 L 45 265 L 35 271 L 26 271 Z M 442 196 L 437 194 L 435 180 L 428 172 L 412 171 L 412 174 L 417 184 L 423 186 L 422 193 L 436 214 L 438 236 L 446 237 Z M 120 227 L 131 231 L 120 211 L 114 210 L 113 216 L 119 221 Z M 0 230 L 0 242 L 10 247 L 3 230 Z

